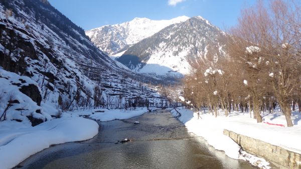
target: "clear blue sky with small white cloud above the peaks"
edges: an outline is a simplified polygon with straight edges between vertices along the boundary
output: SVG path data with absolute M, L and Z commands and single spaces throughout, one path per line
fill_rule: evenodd
M 178 16 L 202 16 L 227 29 L 237 23 L 243 8 L 256 0 L 48 0 L 84 30 L 120 24 L 133 18 L 167 20 Z

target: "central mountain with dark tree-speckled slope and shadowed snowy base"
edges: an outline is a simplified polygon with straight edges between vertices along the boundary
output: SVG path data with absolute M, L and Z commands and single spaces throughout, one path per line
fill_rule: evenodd
M 129 47 L 117 60 L 138 73 L 181 76 L 209 46 L 222 53 L 224 33 L 202 17 L 170 25 Z

